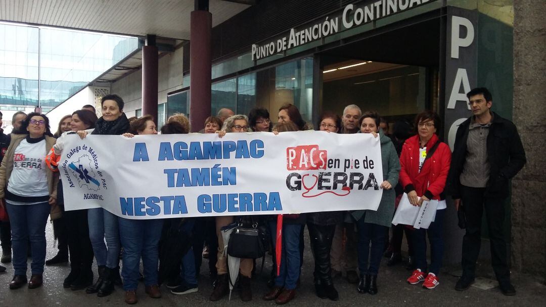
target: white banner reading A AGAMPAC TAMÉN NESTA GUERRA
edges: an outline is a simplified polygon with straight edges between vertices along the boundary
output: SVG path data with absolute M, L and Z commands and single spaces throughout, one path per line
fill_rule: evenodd
M 379 138 L 320 131 L 70 136 L 66 210 L 128 219 L 377 210 Z

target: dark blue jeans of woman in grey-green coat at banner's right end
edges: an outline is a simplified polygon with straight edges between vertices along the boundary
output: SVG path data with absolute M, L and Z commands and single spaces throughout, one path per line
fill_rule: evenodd
M 377 275 L 383 256 L 388 227 L 364 222 L 365 215 L 357 221 L 358 270 L 360 276 Z M 370 247 L 371 242 L 371 247 Z M 368 267 L 368 264 L 370 265 Z

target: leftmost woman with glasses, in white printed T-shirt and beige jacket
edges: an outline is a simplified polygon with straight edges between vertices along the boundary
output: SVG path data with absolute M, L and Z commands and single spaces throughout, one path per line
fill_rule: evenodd
M 27 242 L 31 242 L 32 264 L 28 288 L 43 284 L 45 264 L 45 225 L 60 217 L 57 202 L 58 174 L 45 165 L 45 157 L 55 144 L 49 131 L 48 117 L 28 114 L 19 134 L 11 134 L 11 142 L 0 166 L 0 199 L 5 198 L 11 222 L 13 268 L 15 275 L 10 289 L 27 283 Z M 0 205 L 4 201 L 0 200 Z

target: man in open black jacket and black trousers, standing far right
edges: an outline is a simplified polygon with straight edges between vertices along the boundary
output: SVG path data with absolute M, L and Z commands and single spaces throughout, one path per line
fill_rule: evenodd
M 455 290 L 464 291 L 474 282 L 478 259 L 482 215 L 489 227 L 491 265 L 500 289 L 515 295 L 510 283 L 505 233 L 504 202 L 509 179 L 523 168 L 525 150 L 515 125 L 492 112 L 492 96 L 485 87 L 474 88 L 467 95 L 472 114 L 461 123 L 455 137 L 448 192 L 455 208 L 466 216 L 466 234 L 462 240 L 462 276 Z

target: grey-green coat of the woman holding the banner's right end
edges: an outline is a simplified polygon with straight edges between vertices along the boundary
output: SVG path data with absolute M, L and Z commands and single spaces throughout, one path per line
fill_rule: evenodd
M 393 142 L 387 135 L 383 134 L 381 129 L 379 129 L 379 141 L 381 141 L 383 180 L 389 181 L 393 187 L 390 190 L 383 189 L 383 196 L 381 197 L 381 203 L 379 203 L 377 211 L 356 210 L 352 211 L 351 215 L 357 221 L 364 217 L 364 222 L 366 223 L 390 227 L 394 215 L 394 199 L 396 198 L 394 187 L 398 183 L 400 160 L 398 154 L 396 154 Z M 381 185 L 381 182 L 377 182 L 377 184 Z

